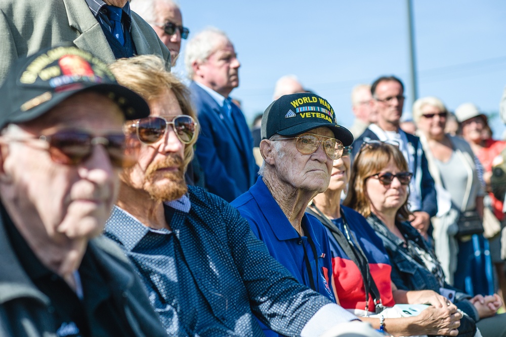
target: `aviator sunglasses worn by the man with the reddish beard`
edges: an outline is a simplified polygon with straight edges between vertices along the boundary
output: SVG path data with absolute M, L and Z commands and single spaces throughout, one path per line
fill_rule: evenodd
M 142 118 L 131 127 L 137 129 L 137 137 L 142 143 L 152 144 L 163 137 L 169 124 L 172 124 L 176 136 L 183 144 L 189 144 L 195 138 L 197 123 L 191 116 L 186 115 L 176 116 L 172 122 L 161 116 Z

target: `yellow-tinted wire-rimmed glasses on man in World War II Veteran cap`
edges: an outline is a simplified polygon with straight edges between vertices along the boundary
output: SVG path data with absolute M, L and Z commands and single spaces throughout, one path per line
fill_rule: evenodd
M 344 147 L 343 143 L 340 140 L 331 137 L 315 135 L 313 133 L 303 133 L 298 137 L 287 137 L 271 140 L 274 141 L 286 139 L 297 139 L 295 146 L 297 150 L 304 155 L 309 155 L 315 152 L 318 149 L 320 143 L 322 143 L 323 149 L 330 159 L 339 159 L 343 155 Z

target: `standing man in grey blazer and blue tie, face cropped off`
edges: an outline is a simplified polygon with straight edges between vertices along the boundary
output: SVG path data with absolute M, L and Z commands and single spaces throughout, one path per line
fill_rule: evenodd
M 171 68 L 170 52 L 128 0 L 0 0 L 0 41 L 0 84 L 16 59 L 67 41 L 106 63 L 155 54 Z

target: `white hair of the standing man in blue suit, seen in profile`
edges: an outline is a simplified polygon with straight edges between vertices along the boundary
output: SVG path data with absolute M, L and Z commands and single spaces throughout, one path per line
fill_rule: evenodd
M 193 62 L 207 60 L 223 39 L 230 41 L 224 31 L 215 27 L 207 27 L 188 41 L 185 48 L 185 66 L 190 80 L 195 76 Z

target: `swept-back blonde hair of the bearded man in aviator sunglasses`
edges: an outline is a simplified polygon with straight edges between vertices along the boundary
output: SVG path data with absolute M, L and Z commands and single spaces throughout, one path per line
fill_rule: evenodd
M 121 58 L 109 65 L 119 84 L 139 95 L 148 103 L 161 97 L 165 90 L 171 90 L 176 96 L 183 115 L 191 116 L 197 122 L 195 110 L 191 105 L 190 91 L 172 73 L 165 70 L 163 60 L 155 55 L 140 55 Z M 185 167 L 193 158 L 193 145 L 197 141 L 198 123 L 195 137 L 185 145 Z

